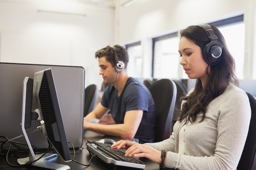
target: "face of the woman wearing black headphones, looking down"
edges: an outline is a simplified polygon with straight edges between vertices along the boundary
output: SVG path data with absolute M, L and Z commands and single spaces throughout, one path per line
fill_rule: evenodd
M 182 37 L 179 44 L 179 53 L 182 57 L 180 64 L 190 79 L 201 79 L 202 85 L 206 81 L 207 62 L 204 61 L 202 51 L 198 45 Z M 209 70 L 210 71 L 210 68 Z

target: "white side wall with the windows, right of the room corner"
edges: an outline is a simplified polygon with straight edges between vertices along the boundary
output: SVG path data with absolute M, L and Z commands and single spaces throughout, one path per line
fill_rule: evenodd
M 150 38 L 176 32 L 189 25 L 205 24 L 244 14 L 245 47 L 241 46 L 245 48 L 244 77 L 253 77 L 253 66 L 256 66 L 255 0 L 139 0 L 128 7 L 121 7 L 124 1 L 120 0 L 116 9 L 115 27 L 118 31 L 115 41 L 127 44 L 141 40 L 146 44 L 142 44 L 144 63 L 152 60 L 152 55 L 148 52 L 151 46 L 145 43 Z M 145 67 L 148 65 L 144 65 Z M 147 77 L 148 71 L 144 69 L 143 75 Z

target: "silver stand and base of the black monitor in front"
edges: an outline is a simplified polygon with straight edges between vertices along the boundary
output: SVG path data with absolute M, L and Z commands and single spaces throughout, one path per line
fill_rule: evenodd
M 24 81 L 25 83 L 27 83 L 28 77 L 25 77 Z M 34 150 L 30 144 L 29 138 L 27 136 L 27 132 L 25 130 L 25 107 L 26 107 L 26 93 L 25 91 L 27 90 L 26 86 L 23 86 L 23 98 L 22 98 L 22 118 L 21 118 L 21 129 L 23 132 L 23 135 L 27 141 L 27 145 L 29 147 L 29 157 L 25 157 L 25 158 L 20 158 L 17 159 L 18 163 L 20 165 L 24 165 L 27 164 L 28 161 L 35 161 L 36 159 L 38 159 L 40 156 L 42 156 L 42 154 L 36 154 L 34 153 Z M 44 127 L 44 121 L 41 120 L 40 121 L 41 126 L 38 127 L 38 129 L 41 129 L 44 133 L 45 127 Z M 35 161 L 33 163 L 31 163 L 31 166 L 37 166 L 40 168 L 47 168 L 47 169 L 51 169 L 51 170 L 70 170 L 70 167 L 67 165 L 63 165 L 63 164 L 59 164 L 59 163 L 53 163 L 51 161 L 56 160 L 57 159 L 57 154 L 50 154 L 50 153 L 46 153 L 44 155 L 44 157 L 42 157 L 41 159 L 39 159 L 38 161 Z

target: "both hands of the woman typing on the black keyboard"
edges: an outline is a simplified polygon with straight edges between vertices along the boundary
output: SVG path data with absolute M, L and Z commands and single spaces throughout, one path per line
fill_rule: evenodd
M 146 157 L 155 163 L 161 163 L 161 151 L 156 150 L 147 144 L 138 144 L 135 141 L 121 140 L 112 145 L 112 149 L 120 148 L 127 148 L 125 156 Z

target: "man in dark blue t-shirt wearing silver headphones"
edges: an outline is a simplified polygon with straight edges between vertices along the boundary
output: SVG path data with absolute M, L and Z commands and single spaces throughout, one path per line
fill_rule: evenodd
M 101 102 L 84 117 L 84 130 L 119 136 L 138 143 L 154 142 L 157 126 L 155 104 L 146 86 L 126 71 L 128 53 L 122 46 L 106 46 L 95 53 L 104 83 L 109 84 Z M 110 111 L 116 124 L 97 124 Z

